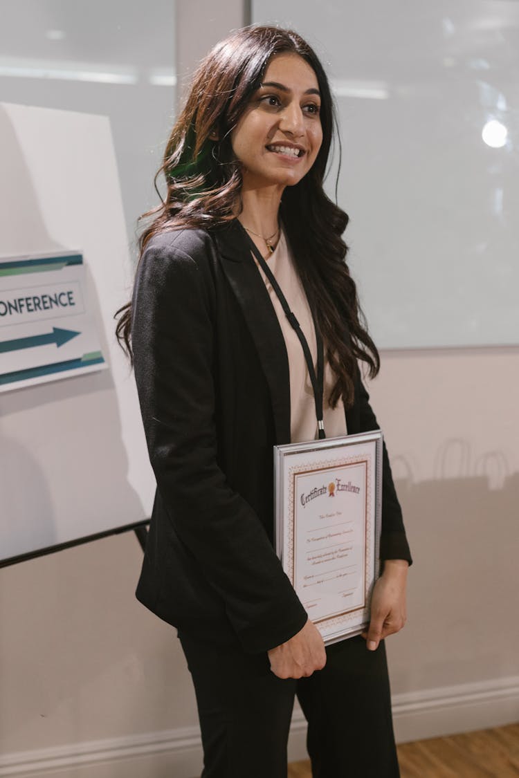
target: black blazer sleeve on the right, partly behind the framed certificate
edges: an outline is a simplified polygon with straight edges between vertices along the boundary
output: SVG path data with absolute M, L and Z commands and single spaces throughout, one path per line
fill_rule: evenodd
M 380 429 L 370 405 L 370 396 L 359 377 L 360 431 Z M 398 502 L 386 444 L 382 454 L 382 529 L 380 533 L 380 559 L 407 559 L 412 564 L 409 544 L 405 537 L 402 508 Z

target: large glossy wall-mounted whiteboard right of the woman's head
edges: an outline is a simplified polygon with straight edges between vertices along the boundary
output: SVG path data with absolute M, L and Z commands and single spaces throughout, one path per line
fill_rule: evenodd
M 380 348 L 519 342 L 519 3 L 254 0 L 338 103 L 338 203 Z M 489 121 L 507 128 L 492 148 Z M 328 179 L 334 196 L 335 177 Z

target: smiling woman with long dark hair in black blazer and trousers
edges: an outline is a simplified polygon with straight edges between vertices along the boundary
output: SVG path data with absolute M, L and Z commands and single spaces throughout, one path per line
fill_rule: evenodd
M 164 156 L 167 195 L 142 235 L 133 349 L 157 492 L 137 596 L 178 629 L 206 778 L 286 776 L 294 695 L 314 776 L 398 776 L 384 643 L 405 621 L 410 562 L 384 450 L 370 629 L 324 650 L 272 546 L 272 447 L 317 436 L 303 351 L 256 257 L 326 350 L 328 436 L 377 429 L 359 377 L 379 357 L 359 320 L 322 184 L 330 89 L 296 33 L 251 27 L 202 61 Z M 310 388 L 309 388 L 310 387 Z

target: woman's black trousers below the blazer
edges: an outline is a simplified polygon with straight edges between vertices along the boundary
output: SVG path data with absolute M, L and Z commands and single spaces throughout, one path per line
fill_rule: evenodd
M 267 654 L 244 654 L 179 633 L 195 685 L 202 778 L 286 778 L 294 696 L 308 721 L 314 778 L 398 778 L 384 643 L 327 648 L 310 678 L 276 678 Z

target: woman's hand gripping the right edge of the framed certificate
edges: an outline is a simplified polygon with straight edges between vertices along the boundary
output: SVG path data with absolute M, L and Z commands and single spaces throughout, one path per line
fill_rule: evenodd
M 409 564 L 405 559 L 386 559 L 384 573 L 373 587 L 370 628 L 362 636 L 368 650 L 375 651 L 380 640 L 399 632 L 405 625 L 405 584 Z

